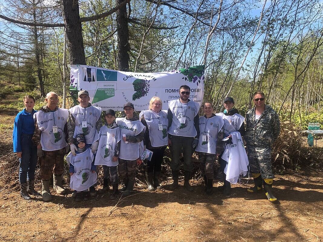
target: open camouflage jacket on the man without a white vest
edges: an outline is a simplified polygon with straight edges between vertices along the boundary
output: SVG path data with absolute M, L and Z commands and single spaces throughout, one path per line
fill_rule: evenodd
M 255 107 L 246 113 L 245 141 L 247 146 L 268 147 L 278 138 L 280 122 L 278 114 L 266 105 L 258 122 L 255 121 Z

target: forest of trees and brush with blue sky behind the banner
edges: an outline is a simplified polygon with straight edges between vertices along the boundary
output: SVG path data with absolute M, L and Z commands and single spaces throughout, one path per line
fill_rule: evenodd
M 232 96 L 242 115 L 252 93 L 282 121 L 279 170 L 313 165 L 300 130 L 323 124 L 322 1 L 12 0 L 0 4 L 0 98 L 55 91 L 73 105 L 69 65 L 161 72 L 205 65 L 204 101 Z

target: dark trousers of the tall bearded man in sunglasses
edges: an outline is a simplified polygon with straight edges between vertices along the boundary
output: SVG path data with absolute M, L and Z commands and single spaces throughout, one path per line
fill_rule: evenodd
M 171 169 L 172 171 L 178 171 L 180 169 L 180 156 L 183 153 L 184 156 L 184 171 L 193 171 L 192 165 L 192 143 L 194 137 L 184 137 L 172 135 L 171 141 L 171 151 L 172 151 L 172 161 Z

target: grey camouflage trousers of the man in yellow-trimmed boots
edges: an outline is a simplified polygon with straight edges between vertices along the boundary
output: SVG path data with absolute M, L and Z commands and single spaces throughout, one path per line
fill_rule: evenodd
M 251 173 L 260 173 L 263 179 L 274 178 L 271 165 L 271 147 L 247 146 Z

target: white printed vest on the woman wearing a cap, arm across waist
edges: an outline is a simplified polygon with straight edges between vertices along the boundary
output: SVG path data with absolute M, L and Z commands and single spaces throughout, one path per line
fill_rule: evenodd
M 119 158 L 123 160 L 138 159 L 139 155 L 143 152 L 143 141 L 139 143 L 128 142 L 128 144 L 126 144 L 122 139 L 122 135 L 136 136 L 140 134 L 141 131 L 145 131 L 146 126 L 144 126 L 139 120 L 130 121 L 126 118 L 116 118 L 116 122 L 120 127 L 121 135 Z

